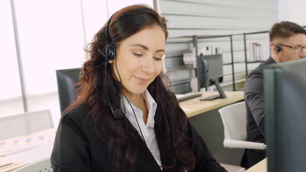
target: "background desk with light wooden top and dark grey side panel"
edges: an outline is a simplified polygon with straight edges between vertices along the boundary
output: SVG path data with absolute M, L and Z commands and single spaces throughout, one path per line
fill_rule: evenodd
M 219 92 L 217 91 L 205 91 L 201 93 L 201 97 L 219 95 Z M 228 154 L 224 154 L 226 152 L 223 151 L 224 127 L 218 110 L 224 106 L 243 101 L 244 92 L 225 91 L 224 93 L 227 96 L 226 99 L 200 101 L 201 97 L 195 97 L 194 99 L 180 102 L 180 106 L 185 111 L 190 123 L 205 140 L 215 158 L 220 160 L 220 162 L 229 164 L 238 164 L 239 159 L 240 164 L 240 152 L 238 152 L 238 154 L 235 153 L 234 155 L 231 154 L 232 158 L 225 158 L 228 157 Z M 237 159 L 237 162 L 233 162 L 232 159 Z

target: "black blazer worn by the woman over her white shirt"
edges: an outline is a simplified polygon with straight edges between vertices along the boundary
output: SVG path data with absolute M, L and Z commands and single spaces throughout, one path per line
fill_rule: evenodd
M 132 124 L 130 124 L 132 125 Z M 213 132 L 213 131 L 208 131 Z M 135 171 L 156 172 L 161 171 L 156 160 L 148 150 L 140 135 L 138 136 L 138 155 L 135 163 Z M 216 162 L 206 143 L 188 121 L 188 135 L 195 138 L 196 163 L 194 172 L 224 172 L 226 171 Z M 164 141 L 156 132 L 158 146 L 163 165 L 171 162 L 165 153 Z M 112 172 L 115 171 L 108 158 L 108 142 L 101 140 L 91 123 L 89 109 L 86 105 L 65 114 L 60 120 L 56 133 L 51 163 L 54 172 Z M 177 166 L 183 164 L 177 163 Z M 177 171 L 175 167 L 170 170 Z

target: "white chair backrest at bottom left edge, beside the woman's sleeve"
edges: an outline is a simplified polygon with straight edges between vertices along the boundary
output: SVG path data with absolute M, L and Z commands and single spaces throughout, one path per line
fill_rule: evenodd
M 44 158 L 33 163 L 24 165 L 20 168 L 13 170 L 12 172 L 53 172 L 50 157 Z

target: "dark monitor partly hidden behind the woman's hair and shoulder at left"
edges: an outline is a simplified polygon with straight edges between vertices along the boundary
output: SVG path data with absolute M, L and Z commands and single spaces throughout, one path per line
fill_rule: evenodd
M 81 68 L 56 70 L 61 113 L 74 99 L 77 89 L 75 84 L 79 82 L 80 70 Z

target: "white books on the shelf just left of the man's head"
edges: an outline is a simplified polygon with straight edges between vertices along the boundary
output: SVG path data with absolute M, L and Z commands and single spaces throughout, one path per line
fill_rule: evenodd
M 250 42 L 249 43 L 248 62 L 260 62 L 270 57 L 270 44 L 268 41 Z

